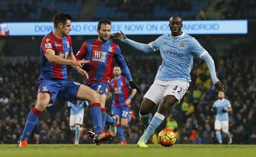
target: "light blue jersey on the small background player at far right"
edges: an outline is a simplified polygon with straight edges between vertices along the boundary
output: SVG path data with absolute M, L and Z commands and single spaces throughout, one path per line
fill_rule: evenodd
M 226 100 L 225 98 L 214 101 L 213 107 L 217 110 L 216 119 L 219 121 L 228 121 L 229 114 L 227 112 L 223 112 L 222 109 L 228 110 L 230 106 L 229 100 Z

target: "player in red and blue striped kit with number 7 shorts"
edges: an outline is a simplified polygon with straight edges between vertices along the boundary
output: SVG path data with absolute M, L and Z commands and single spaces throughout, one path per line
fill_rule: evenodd
M 110 42 L 109 38 L 111 35 L 111 22 L 109 20 L 100 20 L 97 26 L 97 39 L 90 39 L 82 44 L 79 52 L 76 54 L 77 60 L 90 60 L 88 64 L 89 79 L 86 78 L 85 85 L 96 90 L 100 94 L 100 105 L 90 105 L 90 113 L 92 117 L 96 119 L 93 123 L 95 130 L 95 136 L 92 131 L 88 131 L 88 135 L 93 139 L 93 142 L 97 145 L 100 144 L 98 141 L 99 133 L 104 130 L 106 119 L 111 125 L 110 133 L 106 133 L 106 136 L 110 140 L 113 135 L 116 134 L 116 123 L 118 121 L 117 116 L 110 117 L 106 114 L 105 103 L 109 92 L 109 83 L 113 77 L 113 59 L 117 61 L 117 64 L 121 67 L 123 74 L 129 80 L 131 88 L 138 90 L 138 86 L 133 81 L 129 68 L 127 67 L 125 60 L 121 54 L 121 49 L 115 43 Z M 101 115 L 101 116 L 99 116 Z M 100 126 L 99 126 L 100 125 Z

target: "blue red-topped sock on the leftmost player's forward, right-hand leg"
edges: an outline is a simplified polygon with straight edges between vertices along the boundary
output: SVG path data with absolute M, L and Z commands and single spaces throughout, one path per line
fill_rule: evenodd
M 94 103 L 90 105 L 90 117 L 92 117 L 93 121 L 93 129 L 94 133 L 98 134 L 102 129 L 102 117 L 99 116 L 101 115 L 101 104 L 100 103 Z

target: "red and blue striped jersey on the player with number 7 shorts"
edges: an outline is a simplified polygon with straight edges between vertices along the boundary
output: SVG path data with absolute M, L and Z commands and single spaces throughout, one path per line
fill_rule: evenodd
M 123 56 L 121 49 L 115 43 L 107 40 L 101 42 L 98 39 L 90 39 L 80 48 L 76 54 L 76 60 L 90 60 L 89 63 L 89 79 L 85 80 L 86 85 L 94 82 L 110 81 L 113 77 L 113 59 L 122 69 L 125 76 L 131 80 L 131 74 Z

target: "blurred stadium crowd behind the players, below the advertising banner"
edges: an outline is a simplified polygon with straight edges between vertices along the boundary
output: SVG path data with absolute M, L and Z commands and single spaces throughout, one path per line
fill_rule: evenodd
M 225 84 L 226 98 L 232 104 L 229 130 L 233 134 L 235 144 L 256 144 L 256 65 L 253 45 L 253 43 L 239 43 L 233 45 L 223 55 L 217 55 L 212 49 L 209 50 L 216 64 L 217 75 Z M 140 85 L 142 92 L 146 93 L 162 63 L 160 57 L 128 56 L 125 59 L 135 81 Z M 16 143 L 22 134 L 26 116 L 36 102 L 39 63 L 39 59 L 28 58 L 24 63 L 0 64 L 0 143 Z M 69 77 L 71 80 L 82 82 L 82 77 L 74 71 L 69 72 Z M 170 116 L 159 129 L 175 130 L 177 143 L 216 143 L 215 114 L 210 109 L 213 101 L 217 100 L 217 90 L 212 85 L 204 61 L 194 59 L 191 79 L 187 94 L 180 104 L 170 111 Z M 142 97 L 143 94 L 137 94 L 131 104 L 137 121 L 124 129 L 127 143 L 137 143 L 144 129 L 138 118 Z M 109 112 L 110 105 L 109 100 L 106 105 Z M 88 107 L 85 107 L 84 127 L 85 131 L 92 130 Z M 69 129 L 67 102 L 59 100 L 52 108 L 42 113 L 40 123 L 34 129 L 34 136 L 31 136 L 29 141 L 30 143 L 73 143 L 73 138 L 73 133 Z M 155 143 L 154 138 L 155 136 L 152 137 L 152 143 Z M 84 134 L 80 143 L 92 143 L 92 141 Z M 119 143 L 119 138 L 114 138 L 111 143 Z

